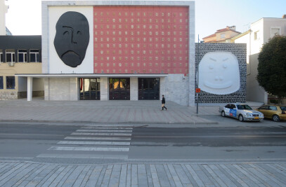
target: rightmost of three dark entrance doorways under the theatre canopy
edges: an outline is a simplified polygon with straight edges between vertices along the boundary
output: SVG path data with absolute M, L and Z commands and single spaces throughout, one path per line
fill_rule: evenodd
M 159 100 L 160 78 L 138 78 L 138 100 Z

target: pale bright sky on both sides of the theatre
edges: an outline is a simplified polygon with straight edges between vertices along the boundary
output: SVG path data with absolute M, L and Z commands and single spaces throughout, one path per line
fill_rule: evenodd
M 13 35 L 41 35 L 41 0 L 8 0 L 6 27 Z M 286 0 L 195 0 L 195 41 L 226 26 L 245 32 L 260 18 L 282 18 Z

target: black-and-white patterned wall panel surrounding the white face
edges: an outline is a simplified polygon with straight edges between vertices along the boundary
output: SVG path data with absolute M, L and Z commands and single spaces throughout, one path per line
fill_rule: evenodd
M 199 103 L 228 103 L 246 101 L 247 80 L 247 46 L 244 43 L 195 43 L 195 67 L 201 62 L 202 57 L 209 52 L 232 53 L 238 59 L 240 88 L 226 95 L 218 95 L 205 91 L 199 93 Z M 199 80 L 200 81 L 200 80 Z M 199 83 L 200 84 L 200 83 Z M 195 75 L 195 88 L 197 88 L 197 74 Z M 195 89 L 194 89 L 195 90 Z M 196 96 L 195 96 L 196 97 Z M 195 98 L 197 102 L 197 98 Z

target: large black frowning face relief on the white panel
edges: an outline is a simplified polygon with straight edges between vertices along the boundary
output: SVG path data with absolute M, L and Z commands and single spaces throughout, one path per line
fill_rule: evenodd
M 89 46 L 89 22 L 77 12 L 66 12 L 56 24 L 53 44 L 58 56 L 69 67 L 82 64 Z

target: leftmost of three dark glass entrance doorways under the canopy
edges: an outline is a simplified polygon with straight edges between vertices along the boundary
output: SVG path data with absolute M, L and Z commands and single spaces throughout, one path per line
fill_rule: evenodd
M 99 78 L 79 78 L 79 100 L 100 100 Z

